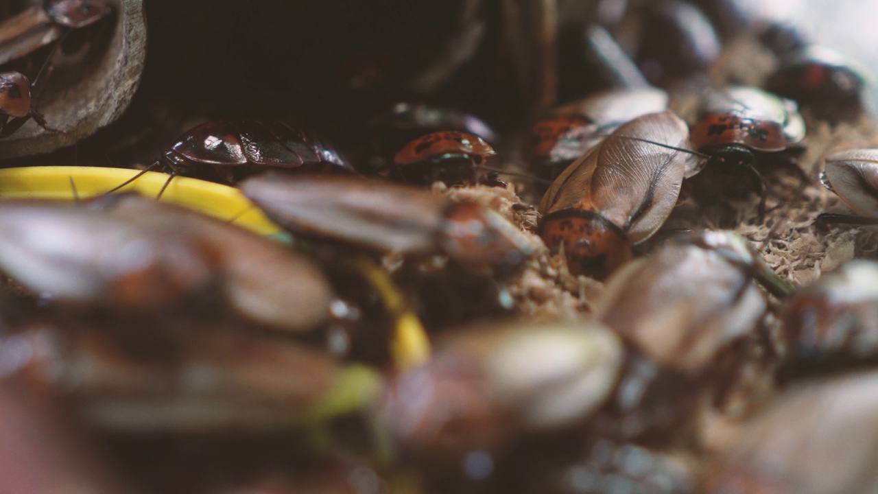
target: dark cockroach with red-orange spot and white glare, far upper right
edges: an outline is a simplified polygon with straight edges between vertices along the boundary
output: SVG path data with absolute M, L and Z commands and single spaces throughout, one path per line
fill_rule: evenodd
M 799 105 L 817 118 L 855 120 L 863 112 L 863 93 L 874 80 L 867 69 L 824 47 L 809 46 L 789 55 L 765 88 Z

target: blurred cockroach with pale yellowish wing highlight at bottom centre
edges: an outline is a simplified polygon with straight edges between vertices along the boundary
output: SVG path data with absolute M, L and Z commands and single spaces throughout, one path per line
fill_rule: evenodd
M 600 323 L 453 331 L 399 375 L 384 416 L 399 443 L 439 461 L 497 453 L 522 433 L 590 418 L 615 387 L 623 345 Z

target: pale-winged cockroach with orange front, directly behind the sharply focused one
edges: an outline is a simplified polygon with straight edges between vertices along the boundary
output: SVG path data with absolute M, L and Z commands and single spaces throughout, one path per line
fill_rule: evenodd
M 665 91 L 639 88 L 604 91 L 560 106 L 531 127 L 522 155 L 538 177 L 554 179 L 615 127 L 666 110 L 667 103 Z

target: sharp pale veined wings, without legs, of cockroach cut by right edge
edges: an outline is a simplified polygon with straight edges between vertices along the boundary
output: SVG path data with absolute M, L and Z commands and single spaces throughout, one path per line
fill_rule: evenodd
M 826 179 L 859 214 L 878 217 L 878 149 L 845 149 L 826 156 Z

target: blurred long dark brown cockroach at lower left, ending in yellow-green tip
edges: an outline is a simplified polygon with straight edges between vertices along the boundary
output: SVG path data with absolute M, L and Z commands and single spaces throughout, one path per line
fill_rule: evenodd
M 112 432 L 289 430 L 297 420 L 354 411 L 381 389 L 372 371 L 277 335 L 217 321 L 165 324 L 176 331 L 33 323 L 0 349 L 18 345 L 26 358 L 13 370 Z M 338 393 L 357 397 L 323 406 Z

